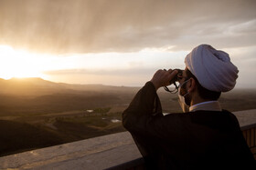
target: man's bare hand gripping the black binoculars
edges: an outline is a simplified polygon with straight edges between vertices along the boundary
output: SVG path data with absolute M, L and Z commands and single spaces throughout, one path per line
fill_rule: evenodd
M 150 80 L 153 85 L 155 85 L 155 89 L 157 90 L 161 86 L 167 86 L 170 85 L 170 81 L 176 76 L 177 70 L 169 69 L 166 70 L 157 70 L 155 72 L 155 75 Z

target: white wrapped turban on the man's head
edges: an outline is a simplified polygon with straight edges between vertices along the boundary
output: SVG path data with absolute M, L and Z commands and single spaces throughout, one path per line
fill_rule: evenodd
M 228 92 L 236 85 L 239 70 L 230 61 L 229 54 L 210 45 L 199 45 L 185 58 L 188 70 L 200 85 L 215 92 Z

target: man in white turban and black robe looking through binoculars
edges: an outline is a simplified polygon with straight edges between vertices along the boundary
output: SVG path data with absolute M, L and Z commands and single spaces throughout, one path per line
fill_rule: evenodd
M 199 45 L 187 55 L 186 69 L 158 70 L 123 112 L 123 126 L 144 156 L 147 169 L 256 169 L 255 161 L 229 111 L 218 99 L 235 84 L 238 69 L 229 55 Z M 177 76 L 180 103 L 189 112 L 163 115 L 157 89 Z

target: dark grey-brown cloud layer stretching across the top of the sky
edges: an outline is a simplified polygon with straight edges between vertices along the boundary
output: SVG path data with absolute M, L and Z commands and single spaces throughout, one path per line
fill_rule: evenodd
M 255 45 L 255 8 L 255 0 L 0 0 L 0 45 L 58 54 Z

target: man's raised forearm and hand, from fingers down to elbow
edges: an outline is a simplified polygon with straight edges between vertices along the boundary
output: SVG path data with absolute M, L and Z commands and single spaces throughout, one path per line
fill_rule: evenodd
M 158 70 L 150 82 L 135 95 L 132 103 L 123 112 L 123 126 L 130 132 L 146 133 L 147 123 L 155 117 L 163 116 L 160 100 L 156 91 L 159 87 L 169 85 L 177 71 Z

